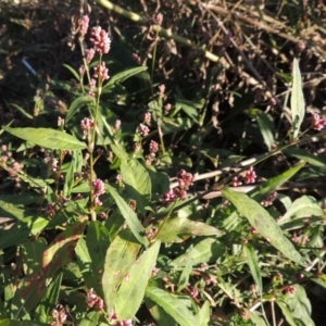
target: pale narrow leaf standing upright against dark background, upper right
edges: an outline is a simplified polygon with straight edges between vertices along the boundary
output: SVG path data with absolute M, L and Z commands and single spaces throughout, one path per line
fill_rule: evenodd
M 292 77 L 291 113 L 293 123 L 293 138 L 297 138 L 304 117 L 304 98 L 302 92 L 299 60 L 296 58 L 293 60 Z

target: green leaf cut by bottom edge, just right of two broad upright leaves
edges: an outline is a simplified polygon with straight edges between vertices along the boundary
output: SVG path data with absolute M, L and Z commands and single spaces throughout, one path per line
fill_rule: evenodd
M 150 286 L 146 289 L 146 297 L 162 306 L 180 326 L 198 326 L 197 318 L 178 296 Z

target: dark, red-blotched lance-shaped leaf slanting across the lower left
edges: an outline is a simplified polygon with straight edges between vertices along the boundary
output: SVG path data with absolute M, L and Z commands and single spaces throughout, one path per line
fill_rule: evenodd
M 12 304 L 15 318 L 26 315 L 41 300 L 47 290 L 47 278 L 54 277 L 55 272 L 73 259 L 76 241 L 85 226 L 85 222 L 76 222 L 58 235 L 42 254 L 42 268 L 21 280 Z

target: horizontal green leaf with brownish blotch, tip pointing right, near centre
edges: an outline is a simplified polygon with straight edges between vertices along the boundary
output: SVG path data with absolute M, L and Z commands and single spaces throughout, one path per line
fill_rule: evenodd
M 168 218 L 158 234 L 156 239 L 162 242 L 184 242 L 185 239 L 192 236 L 221 237 L 223 235 L 224 231 L 214 226 L 202 222 L 191 221 L 183 216 Z

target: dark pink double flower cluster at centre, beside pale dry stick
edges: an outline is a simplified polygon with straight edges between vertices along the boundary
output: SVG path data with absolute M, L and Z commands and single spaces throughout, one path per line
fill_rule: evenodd
M 167 205 L 174 201 L 183 200 L 187 196 L 187 190 L 193 184 L 195 176 L 181 170 L 177 173 L 178 187 L 170 189 L 163 193 L 162 202 Z

